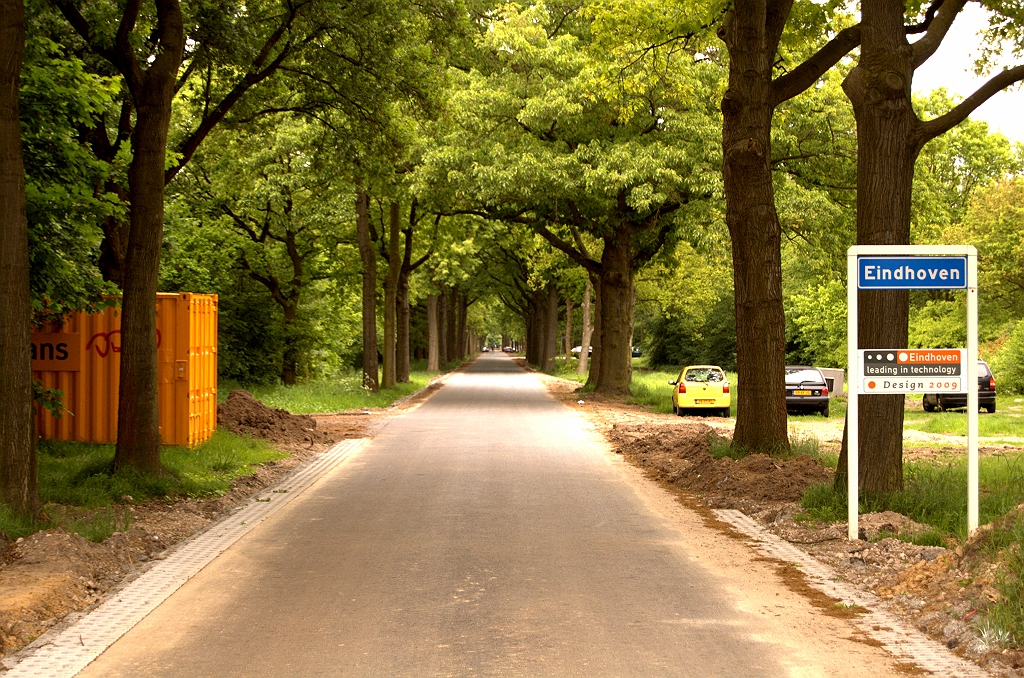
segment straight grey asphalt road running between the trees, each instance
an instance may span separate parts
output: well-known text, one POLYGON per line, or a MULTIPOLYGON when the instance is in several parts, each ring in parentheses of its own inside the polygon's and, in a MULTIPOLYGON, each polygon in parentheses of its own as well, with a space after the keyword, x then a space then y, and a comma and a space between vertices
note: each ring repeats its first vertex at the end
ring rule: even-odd
POLYGON ((738 567, 741 545, 696 541, 625 466, 534 376, 484 355, 80 675, 887 673, 864 645, 837 656, 842 623, 763 563, 738 567))

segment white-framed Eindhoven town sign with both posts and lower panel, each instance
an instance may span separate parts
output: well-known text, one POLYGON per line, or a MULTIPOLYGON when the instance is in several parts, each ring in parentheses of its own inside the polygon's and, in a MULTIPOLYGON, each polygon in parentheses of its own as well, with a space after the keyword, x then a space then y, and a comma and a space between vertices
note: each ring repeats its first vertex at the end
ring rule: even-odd
POLYGON ((848 537, 855 540, 859 533, 858 399, 872 392, 967 392, 967 526, 972 533, 978 528, 978 250, 971 245, 855 245, 846 261, 848 537), (962 349, 859 350, 858 290, 967 290, 967 354, 962 349), (959 366, 955 373, 953 365, 959 366))

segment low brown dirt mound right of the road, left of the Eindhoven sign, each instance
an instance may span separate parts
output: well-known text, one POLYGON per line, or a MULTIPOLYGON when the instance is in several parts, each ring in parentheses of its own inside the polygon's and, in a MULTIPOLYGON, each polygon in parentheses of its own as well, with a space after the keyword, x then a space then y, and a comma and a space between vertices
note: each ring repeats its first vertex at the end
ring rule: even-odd
POLYGON ((701 495, 793 502, 807 485, 833 478, 830 469, 806 455, 786 460, 767 455, 715 459, 710 452, 715 435, 706 424, 615 424, 608 431, 616 452, 701 495))

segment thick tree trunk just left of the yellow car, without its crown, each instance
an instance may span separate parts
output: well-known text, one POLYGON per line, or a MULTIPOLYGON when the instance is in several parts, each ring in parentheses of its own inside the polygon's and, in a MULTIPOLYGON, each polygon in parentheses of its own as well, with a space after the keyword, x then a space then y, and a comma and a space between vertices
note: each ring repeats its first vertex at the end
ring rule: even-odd
MULTIPOLYGON (((601 253, 600 356, 595 347, 595 364, 600 366, 595 393, 623 397, 630 394, 633 356, 633 253, 629 235, 616 232, 604 239, 601 253)), ((592 368, 593 370, 593 368, 592 368)))

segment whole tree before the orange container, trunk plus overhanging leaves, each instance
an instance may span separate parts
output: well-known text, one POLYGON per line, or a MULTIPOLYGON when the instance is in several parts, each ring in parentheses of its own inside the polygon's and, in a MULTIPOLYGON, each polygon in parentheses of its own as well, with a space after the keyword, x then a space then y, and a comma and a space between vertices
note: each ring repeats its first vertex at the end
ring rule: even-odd
MULTIPOLYGON (((97 155, 115 158, 126 142, 131 146, 128 189, 121 192, 129 218, 109 221, 101 261, 124 290, 115 467, 162 472, 153 295, 165 184, 240 109, 239 118, 247 121, 281 112, 340 117, 344 122, 336 124, 350 136, 360 136, 352 134, 357 129, 368 138, 387 137, 392 103, 424 100, 421 86, 436 67, 430 46, 444 44, 433 29, 450 23, 454 8, 386 0, 267 0, 244 7, 189 2, 186 40, 177 0, 155 0, 155 14, 140 0, 129 0, 116 14, 105 6, 83 12, 74 0, 52 2, 106 65, 99 68, 113 69, 125 86, 117 122, 102 120, 86 130, 97 155), (424 43, 424 35, 435 40, 424 43), (287 74, 287 84, 281 74, 287 74), (168 163, 175 94, 190 105, 175 135, 176 162, 168 163)), ((385 138, 379 145, 387 143, 385 138)))

